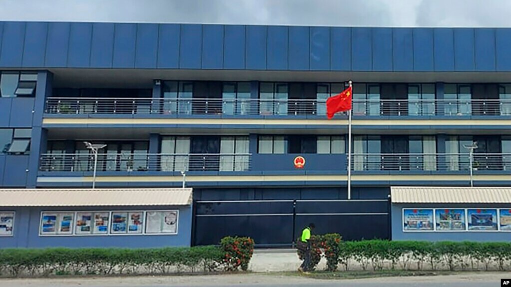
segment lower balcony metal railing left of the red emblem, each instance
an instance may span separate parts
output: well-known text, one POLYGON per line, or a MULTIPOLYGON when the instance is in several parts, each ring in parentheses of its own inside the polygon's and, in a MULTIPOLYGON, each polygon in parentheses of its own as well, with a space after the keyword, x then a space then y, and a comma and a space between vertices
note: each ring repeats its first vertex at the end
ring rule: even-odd
MULTIPOLYGON (((250 154, 137 154, 98 155, 98 172, 181 172, 250 170, 250 154)), ((92 154, 42 154, 39 170, 43 172, 90 172, 92 154)))

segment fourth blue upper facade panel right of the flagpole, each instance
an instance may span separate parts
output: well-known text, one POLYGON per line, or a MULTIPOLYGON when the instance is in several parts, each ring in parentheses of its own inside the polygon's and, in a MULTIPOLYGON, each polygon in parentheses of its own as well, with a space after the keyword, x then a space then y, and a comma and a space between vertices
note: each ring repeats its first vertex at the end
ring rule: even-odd
POLYGON ((433 71, 433 29, 413 30, 413 70, 433 71))

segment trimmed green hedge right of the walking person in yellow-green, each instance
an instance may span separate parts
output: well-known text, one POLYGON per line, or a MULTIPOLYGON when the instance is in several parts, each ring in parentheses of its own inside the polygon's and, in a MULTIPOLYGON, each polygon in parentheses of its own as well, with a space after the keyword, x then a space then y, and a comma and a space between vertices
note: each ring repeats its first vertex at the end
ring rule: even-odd
MULTIPOLYGON (((338 235, 338 234, 336 234, 338 235)), ((508 242, 424 242, 368 240, 332 245, 335 234, 317 235, 327 259, 327 270, 344 270, 357 262, 362 270, 511 270, 511 243, 508 242), (334 254, 332 254, 334 253, 334 254)), ((335 239, 334 239, 335 241, 335 239)), ((321 254, 320 254, 321 255, 321 254)), ((313 262, 314 267, 319 260, 313 262)))

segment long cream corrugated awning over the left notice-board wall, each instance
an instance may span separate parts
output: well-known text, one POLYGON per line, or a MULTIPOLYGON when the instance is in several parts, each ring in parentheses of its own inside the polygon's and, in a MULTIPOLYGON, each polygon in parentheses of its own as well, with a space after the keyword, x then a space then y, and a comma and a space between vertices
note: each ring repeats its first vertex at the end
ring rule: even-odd
POLYGON ((192 188, 0 189, 0 206, 164 206, 192 204, 192 188))

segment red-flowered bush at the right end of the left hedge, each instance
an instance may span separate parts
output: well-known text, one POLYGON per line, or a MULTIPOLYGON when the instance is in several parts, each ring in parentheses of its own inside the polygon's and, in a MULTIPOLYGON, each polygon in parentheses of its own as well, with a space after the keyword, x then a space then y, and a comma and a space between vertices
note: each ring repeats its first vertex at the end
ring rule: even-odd
POLYGON ((227 271, 247 271, 248 264, 254 252, 254 241, 250 237, 222 238, 220 246, 224 252, 223 264, 227 271))

